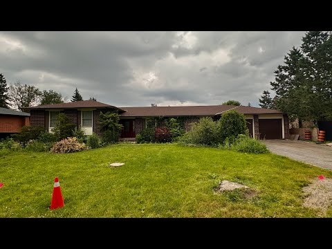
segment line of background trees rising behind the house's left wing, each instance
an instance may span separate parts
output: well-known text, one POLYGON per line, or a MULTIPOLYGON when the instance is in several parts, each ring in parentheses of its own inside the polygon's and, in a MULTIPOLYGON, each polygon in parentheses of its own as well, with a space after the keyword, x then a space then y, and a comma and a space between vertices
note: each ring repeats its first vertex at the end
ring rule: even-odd
MULTIPOLYGON (((81 100, 83 100, 82 95, 76 88, 71 102, 81 100)), ((95 97, 90 97, 89 100, 97 101, 95 97)), ((36 86, 21 84, 19 81, 8 86, 6 77, 0 73, 0 107, 23 111, 24 107, 64 102, 66 102, 66 98, 53 90, 40 91, 36 86)))

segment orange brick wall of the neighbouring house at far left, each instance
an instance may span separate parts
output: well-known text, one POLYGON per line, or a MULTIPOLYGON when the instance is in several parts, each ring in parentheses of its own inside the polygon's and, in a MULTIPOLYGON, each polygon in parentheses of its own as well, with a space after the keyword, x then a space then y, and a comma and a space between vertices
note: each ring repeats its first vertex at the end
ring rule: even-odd
POLYGON ((28 125, 28 120, 26 116, 0 115, 0 133, 17 133, 28 125))

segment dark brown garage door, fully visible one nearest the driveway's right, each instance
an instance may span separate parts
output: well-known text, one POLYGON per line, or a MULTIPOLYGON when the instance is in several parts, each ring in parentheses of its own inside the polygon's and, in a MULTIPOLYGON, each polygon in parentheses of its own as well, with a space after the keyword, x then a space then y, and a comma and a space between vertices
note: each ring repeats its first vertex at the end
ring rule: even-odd
POLYGON ((282 139, 282 119, 260 119, 259 138, 282 139))

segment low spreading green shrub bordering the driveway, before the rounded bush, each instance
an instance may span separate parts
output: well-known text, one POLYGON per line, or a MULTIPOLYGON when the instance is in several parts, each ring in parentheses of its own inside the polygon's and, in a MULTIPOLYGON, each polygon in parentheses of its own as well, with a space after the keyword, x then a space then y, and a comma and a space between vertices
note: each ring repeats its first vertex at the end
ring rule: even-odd
POLYGON ((242 134, 240 134, 232 144, 230 144, 228 138, 226 138, 224 145, 219 147, 243 153, 252 153, 252 154, 268 153, 268 149, 266 148, 266 145, 264 145, 264 143, 242 134))

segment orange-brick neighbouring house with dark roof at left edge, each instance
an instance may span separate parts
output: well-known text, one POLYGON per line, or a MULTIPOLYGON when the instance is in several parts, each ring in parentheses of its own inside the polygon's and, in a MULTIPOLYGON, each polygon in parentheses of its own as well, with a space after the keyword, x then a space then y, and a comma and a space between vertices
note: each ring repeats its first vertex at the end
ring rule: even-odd
POLYGON ((30 124, 30 113, 0 107, 0 138, 19 133, 21 127, 30 124))

